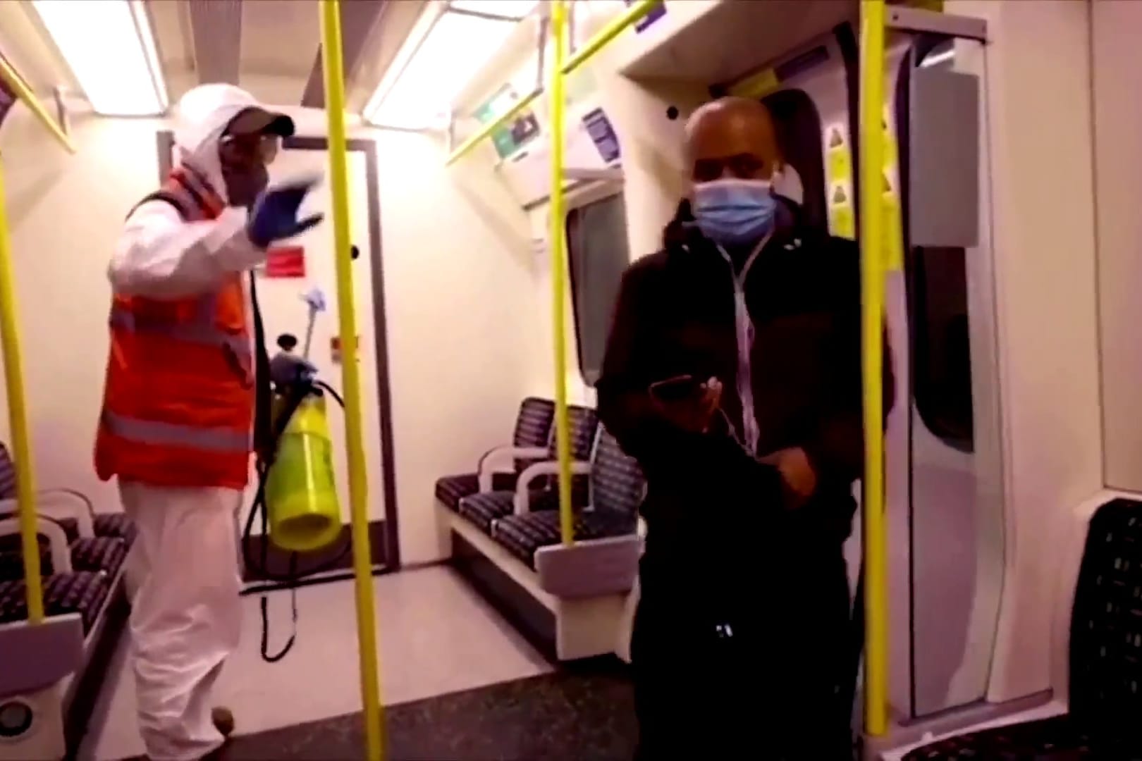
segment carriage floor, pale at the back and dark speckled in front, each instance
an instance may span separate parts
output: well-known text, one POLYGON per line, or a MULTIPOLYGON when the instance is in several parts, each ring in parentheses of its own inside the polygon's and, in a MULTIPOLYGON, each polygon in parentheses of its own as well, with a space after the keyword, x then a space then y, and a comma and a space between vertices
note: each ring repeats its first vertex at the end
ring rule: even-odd
MULTIPOLYGON (((447 566, 373 581, 388 758, 632 756, 634 698, 617 658, 553 667, 447 566)), ((259 655, 258 596, 242 598, 242 642, 215 691, 238 726, 224 759, 363 754, 353 581, 297 592, 297 642, 276 664, 259 655)), ((288 596, 270 596, 271 651, 289 635, 288 596)), ((107 670, 83 761, 144 753, 126 643, 107 670)))

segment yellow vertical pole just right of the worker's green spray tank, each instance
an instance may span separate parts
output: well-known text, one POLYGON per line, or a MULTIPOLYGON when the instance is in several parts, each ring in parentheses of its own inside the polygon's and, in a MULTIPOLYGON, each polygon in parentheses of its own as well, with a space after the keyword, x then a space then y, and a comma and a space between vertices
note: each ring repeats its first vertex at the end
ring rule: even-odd
POLYGON ((368 478, 361 430, 361 371, 357 366, 356 310, 349 253, 348 162, 345 156, 345 75, 341 60, 341 17, 338 0, 321 2, 321 63, 325 74, 325 115, 329 121, 329 188, 333 205, 337 264, 337 311, 341 342, 341 387, 345 394, 345 448, 348 451, 349 515, 353 576, 356 594, 361 705, 364 710, 365 759, 384 758, 384 717, 377 658, 377 624, 369 551, 368 478))

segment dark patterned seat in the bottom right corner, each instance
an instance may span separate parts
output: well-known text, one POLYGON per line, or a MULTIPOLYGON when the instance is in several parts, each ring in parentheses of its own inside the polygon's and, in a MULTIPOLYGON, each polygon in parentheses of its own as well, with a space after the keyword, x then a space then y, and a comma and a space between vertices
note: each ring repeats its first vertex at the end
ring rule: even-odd
POLYGON ((1142 759, 1142 502, 1091 519, 1071 612, 1070 713, 931 743, 904 761, 1142 759))

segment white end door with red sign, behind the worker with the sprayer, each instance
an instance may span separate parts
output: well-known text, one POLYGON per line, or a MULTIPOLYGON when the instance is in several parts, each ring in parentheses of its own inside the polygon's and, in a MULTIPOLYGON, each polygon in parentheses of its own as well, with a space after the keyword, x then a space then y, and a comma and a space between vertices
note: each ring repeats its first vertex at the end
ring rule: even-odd
MULTIPOLYGON (((376 213, 368 203, 369 172, 367 151, 347 152, 348 189, 351 203, 352 242, 359 256, 353 261, 353 288, 356 301, 357 362, 361 364, 361 411, 364 429, 364 460, 369 479, 369 523, 372 539, 372 561, 385 565, 395 559, 394 521, 386 521, 386 478, 384 469, 384 443, 381 439, 381 384, 386 383, 383 369, 383 342, 377 341, 378 330, 384 330, 376 319, 373 300, 373 267, 376 258, 370 256, 370 213, 376 213), (380 365, 378 365, 378 359, 380 365)), ((270 165, 271 183, 305 176, 325 175, 328 152, 323 139, 298 138, 287 140, 278 157, 270 165)), ((333 262, 332 230, 330 229, 331 201, 328 179, 322 181, 306 199, 303 213, 321 211, 325 224, 287 242, 276 251, 271 250, 266 266, 257 274, 258 301, 262 307, 266 331, 266 348, 273 356, 278 351, 278 338, 284 333, 298 339, 295 354, 300 355, 307 343, 306 325, 308 307, 303 296, 317 289, 324 297, 325 308, 316 315, 312 337, 308 337, 309 362, 322 378, 339 389, 341 384, 340 347, 337 339, 338 305, 333 262)), ((387 398, 387 392, 385 394, 387 398)), ((333 469, 337 477, 337 495, 341 505, 341 520, 348 535, 348 464, 345 452, 345 415, 333 399, 327 398, 329 429, 333 442, 333 469)), ((336 543, 333 550, 340 552, 336 543)), ((327 559, 328 560, 328 559, 327 559)), ((321 560, 314 559, 316 565, 321 560)), ((276 565, 276 564, 275 564, 276 565)), ((328 562, 325 564, 328 565, 328 562)), ((340 565, 340 564, 338 564, 340 565)), ((347 562, 345 566, 347 567, 347 562)), ((304 569, 303 569, 304 570, 304 569)))

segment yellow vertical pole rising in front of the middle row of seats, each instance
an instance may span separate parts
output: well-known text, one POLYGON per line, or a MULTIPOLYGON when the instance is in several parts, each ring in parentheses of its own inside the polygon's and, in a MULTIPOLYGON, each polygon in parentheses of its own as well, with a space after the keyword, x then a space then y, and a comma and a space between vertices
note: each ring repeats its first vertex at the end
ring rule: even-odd
POLYGON ((563 58, 566 55, 566 6, 553 0, 552 65, 547 94, 552 122, 552 331, 555 343, 555 446, 560 461, 560 536, 564 544, 574 542, 571 515, 571 431, 568 430, 568 347, 566 347, 566 249, 563 229, 563 58))

